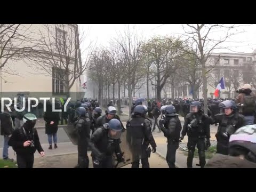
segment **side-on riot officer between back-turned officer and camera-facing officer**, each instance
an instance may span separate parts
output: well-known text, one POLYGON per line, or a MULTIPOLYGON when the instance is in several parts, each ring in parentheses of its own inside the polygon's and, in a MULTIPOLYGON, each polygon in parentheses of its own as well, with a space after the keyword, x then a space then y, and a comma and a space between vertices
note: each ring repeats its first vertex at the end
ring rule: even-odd
POLYGON ((176 150, 179 148, 179 138, 181 123, 179 114, 176 113, 174 106, 166 106, 165 116, 159 121, 159 126, 167 138, 166 162, 169 168, 175 168, 176 150))

